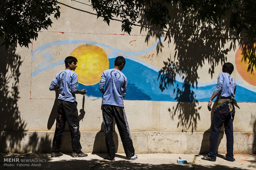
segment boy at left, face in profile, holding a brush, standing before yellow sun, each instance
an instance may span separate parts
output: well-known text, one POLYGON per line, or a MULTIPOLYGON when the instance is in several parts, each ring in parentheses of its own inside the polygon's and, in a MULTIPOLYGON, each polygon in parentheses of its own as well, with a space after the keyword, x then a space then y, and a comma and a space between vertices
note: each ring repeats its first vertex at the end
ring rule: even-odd
POLYGON ((77 74, 74 72, 77 65, 77 59, 75 57, 69 56, 65 59, 66 69, 60 71, 55 79, 52 81, 49 89, 55 90, 59 89, 58 97, 58 112, 56 119, 56 129, 52 142, 52 157, 62 156, 63 154, 59 152, 60 146, 62 144, 62 133, 65 128, 66 121, 69 125, 69 130, 71 133, 71 143, 73 157, 84 157, 87 154, 81 151, 82 147, 80 144, 80 131, 79 131, 79 119, 77 110, 77 101, 75 94, 84 95, 87 91, 85 89, 77 89, 77 74))

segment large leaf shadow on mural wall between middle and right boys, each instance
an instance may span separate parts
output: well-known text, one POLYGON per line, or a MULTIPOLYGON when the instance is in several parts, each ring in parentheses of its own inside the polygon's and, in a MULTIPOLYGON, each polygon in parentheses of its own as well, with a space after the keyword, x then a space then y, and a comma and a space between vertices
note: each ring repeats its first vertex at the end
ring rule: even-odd
MULTIPOLYGON (((168 6, 171 19, 168 21, 167 31, 159 29, 145 19, 141 19, 139 23, 142 25, 141 31, 145 30, 148 34, 145 42, 148 42, 151 37, 155 37, 156 40, 164 37, 169 48, 175 47, 175 54, 170 53, 170 56, 166 56, 167 59, 163 61, 163 67, 159 71, 159 88, 162 92, 168 88, 174 88, 173 94, 176 94, 175 100, 178 103, 168 108, 168 112, 172 119, 178 116, 177 127, 181 127, 182 131, 191 129, 193 133, 197 129, 201 109, 194 89, 197 89, 199 78, 204 78, 199 77, 198 70, 204 65, 209 65, 208 74, 212 78, 215 67, 227 62, 228 52, 235 51, 237 44, 243 44, 246 40, 239 39, 234 30, 228 29, 228 17, 223 18, 220 24, 212 29, 211 26, 185 13, 177 4, 169 3, 168 6), (227 46, 228 43, 230 43, 229 46, 227 46), (176 84, 176 76, 182 78, 182 87, 176 84)), ((143 13, 141 18, 144 18, 143 13)), ((168 47, 160 42, 157 46, 158 55, 161 55, 163 48, 168 47)), ((208 131, 205 131, 203 140, 206 139, 208 131)), ((204 145, 205 141, 201 144, 204 145)), ((200 152, 206 152, 202 148, 204 146, 201 146, 200 152)))

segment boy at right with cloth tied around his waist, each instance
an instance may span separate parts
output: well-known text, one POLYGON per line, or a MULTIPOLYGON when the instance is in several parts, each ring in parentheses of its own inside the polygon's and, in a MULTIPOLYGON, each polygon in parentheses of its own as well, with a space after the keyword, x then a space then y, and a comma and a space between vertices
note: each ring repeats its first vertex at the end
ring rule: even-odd
POLYGON ((217 105, 214 109, 213 119, 211 122, 209 154, 202 157, 203 160, 207 161, 216 161, 218 137, 223 123, 227 138, 227 154, 224 156, 224 159, 227 161, 235 161, 233 154, 233 120, 235 117, 235 106, 238 108, 239 106, 234 99, 237 85, 231 76, 234 71, 233 64, 230 62, 224 63, 222 71, 223 72, 218 76, 216 89, 208 103, 208 110, 211 111, 212 101, 217 96, 217 105))

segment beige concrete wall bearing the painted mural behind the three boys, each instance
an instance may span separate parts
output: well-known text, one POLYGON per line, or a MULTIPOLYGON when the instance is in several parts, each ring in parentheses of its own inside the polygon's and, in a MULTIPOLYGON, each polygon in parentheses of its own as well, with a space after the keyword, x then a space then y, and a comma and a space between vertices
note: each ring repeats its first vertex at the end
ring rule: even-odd
MULTIPOLYGON (((55 75, 65 68, 64 58, 72 54, 80 64, 76 70, 78 88, 88 90, 85 96, 76 95, 84 152, 106 152, 97 76, 101 76, 100 66, 113 68, 114 58, 123 55, 126 58, 123 73, 128 78, 124 103, 136 153, 208 152, 213 112, 208 111, 207 103, 223 58, 235 66, 232 76, 237 82, 236 99, 240 106, 236 108, 234 120, 234 152, 255 153, 256 76, 247 72, 241 62, 238 43, 235 50, 230 50, 229 37, 217 36, 218 32, 211 38, 187 37, 184 33, 167 40, 166 37, 157 39, 150 30, 141 30, 138 26, 128 35, 121 32, 120 21, 111 21, 108 26, 102 18, 88 13, 94 12, 89 6, 60 2, 84 11, 60 5, 59 20, 53 19, 52 28, 40 31, 29 48, 0 49, 5 58, 1 67, 0 152, 50 152, 57 94, 50 91, 49 86, 55 75), (84 55, 75 50, 79 46, 84 55), (178 74, 173 85, 161 89, 159 71, 169 64, 168 59, 177 62, 177 56, 183 54, 188 69, 198 67, 195 69, 197 87, 186 84, 183 87, 183 75, 178 74), (214 57, 218 60, 209 72, 209 60, 214 57)), ((117 152, 123 152, 118 132, 114 132, 114 139, 117 152)), ((218 152, 225 153, 223 129, 219 142, 218 152)), ((67 126, 62 151, 71 152, 67 126)))

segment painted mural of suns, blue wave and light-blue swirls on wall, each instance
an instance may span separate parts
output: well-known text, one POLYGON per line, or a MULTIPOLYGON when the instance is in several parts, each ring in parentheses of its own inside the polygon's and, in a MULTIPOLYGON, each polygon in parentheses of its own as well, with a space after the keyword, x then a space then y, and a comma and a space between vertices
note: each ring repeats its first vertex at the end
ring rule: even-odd
MULTIPOLYGON (((180 77, 176 77, 175 85, 162 92, 159 88, 158 80, 160 69, 138 60, 135 57, 140 55, 151 60, 151 58, 154 57, 153 51, 159 41, 142 51, 124 51, 95 41, 54 41, 33 50, 32 61, 36 67, 31 71, 31 76, 35 78, 39 74, 44 73, 44 71, 63 64, 64 58, 68 55, 75 56, 78 59, 78 68, 75 71, 78 74, 78 89, 86 89, 88 93, 85 96, 88 98, 99 99, 102 97, 102 94, 98 90, 98 83, 100 82, 102 71, 114 67, 115 58, 122 55, 126 58, 126 67, 122 72, 128 79, 126 100, 177 101, 176 94, 173 91, 176 87, 182 87, 183 80, 180 77), (56 52, 53 50, 56 46, 65 49, 70 48, 70 45, 76 46, 70 54, 56 57, 56 52), (108 49, 110 52, 106 53, 103 49, 108 49), (149 54, 151 51, 152 54, 149 54), (40 60, 38 60, 38 58, 40 58, 40 60)), ((132 41, 130 41, 130 43, 130 45, 132 45, 132 41)), ((242 69, 240 69, 245 67, 242 63, 237 62, 240 60, 240 57, 241 50, 238 50, 236 55, 236 67, 239 67, 239 74, 245 75, 241 75, 242 78, 255 86, 256 75, 247 73, 247 70, 242 71, 242 69)), ((54 76, 52 76, 52 78, 53 77, 54 76)), ((236 82, 237 91, 239 91, 239 93, 236 94, 237 102, 256 102, 256 90, 243 85, 238 80, 236 80, 236 82)), ((191 87, 190 89, 193 90, 197 101, 208 101, 215 87, 216 81, 213 81, 209 83, 198 83, 197 88, 191 87)))

